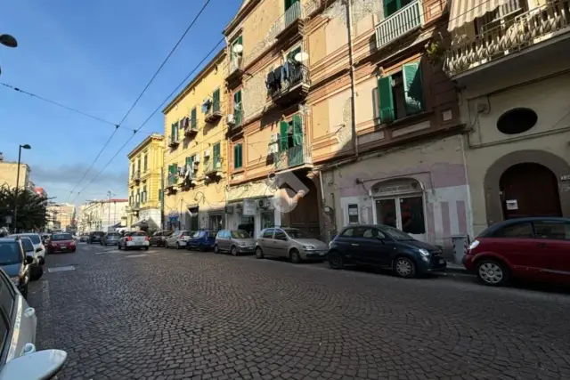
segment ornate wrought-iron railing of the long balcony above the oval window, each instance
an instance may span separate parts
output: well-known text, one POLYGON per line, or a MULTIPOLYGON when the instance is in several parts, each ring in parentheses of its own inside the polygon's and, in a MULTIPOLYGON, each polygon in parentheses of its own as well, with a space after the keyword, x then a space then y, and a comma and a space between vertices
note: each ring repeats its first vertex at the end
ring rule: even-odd
POLYGON ((444 65, 450 76, 570 31, 570 0, 544 4, 514 19, 507 15, 493 20, 497 21, 499 25, 482 30, 476 36, 453 39, 444 65))

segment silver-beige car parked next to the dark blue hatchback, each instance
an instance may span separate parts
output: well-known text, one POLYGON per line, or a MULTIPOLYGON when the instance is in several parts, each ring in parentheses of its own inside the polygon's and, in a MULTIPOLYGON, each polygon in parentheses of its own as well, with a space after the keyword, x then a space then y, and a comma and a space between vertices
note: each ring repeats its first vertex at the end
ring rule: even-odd
POLYGON ((304 260, 324 260, 329 246, 294 228, 268 228, 262 230, 256 241, 256 257, 287 257, 291 263, 304 260))

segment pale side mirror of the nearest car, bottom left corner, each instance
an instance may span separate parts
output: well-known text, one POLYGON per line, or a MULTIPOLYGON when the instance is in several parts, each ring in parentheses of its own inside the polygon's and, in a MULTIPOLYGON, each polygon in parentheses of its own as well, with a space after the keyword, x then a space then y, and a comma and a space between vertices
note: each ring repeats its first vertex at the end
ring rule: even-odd
POLYGON ((0 371, 0 380, 48 380, 60 372, 67 358, 67 352, 61 350, 28 353, 8 361, 0 371))

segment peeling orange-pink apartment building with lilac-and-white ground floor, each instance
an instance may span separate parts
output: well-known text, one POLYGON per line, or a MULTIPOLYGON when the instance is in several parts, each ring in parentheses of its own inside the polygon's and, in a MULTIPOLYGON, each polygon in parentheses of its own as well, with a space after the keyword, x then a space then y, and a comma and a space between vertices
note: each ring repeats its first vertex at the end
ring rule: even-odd
POLYGON ((470 231, 456 93, 426 56, 447 27, 444 9, 443 0, 242 4, 224 30, 229 150, 240 163, 229 167, 232 226, 258 232, 273 214, 275 225, 329 239, 349 223, 383 223, 442 245, 470 231), (272 210, 284 187, 303 198, 272 210))

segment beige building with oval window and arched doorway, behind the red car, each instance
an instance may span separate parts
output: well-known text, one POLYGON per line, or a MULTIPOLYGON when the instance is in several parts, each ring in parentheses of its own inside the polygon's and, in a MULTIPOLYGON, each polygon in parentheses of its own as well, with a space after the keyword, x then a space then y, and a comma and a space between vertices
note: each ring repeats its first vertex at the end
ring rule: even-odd
POLYGON ((570 216, 570 2, 452 0, 448 29, 474 232, 570 216))

